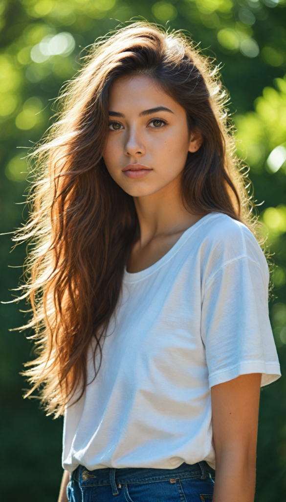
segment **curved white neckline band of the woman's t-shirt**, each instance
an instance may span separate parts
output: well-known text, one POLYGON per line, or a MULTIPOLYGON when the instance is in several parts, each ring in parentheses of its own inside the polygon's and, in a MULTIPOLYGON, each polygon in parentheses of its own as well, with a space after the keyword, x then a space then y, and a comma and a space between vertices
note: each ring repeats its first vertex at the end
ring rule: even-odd
POLYGON ((202 224, 204 224, 208 219, 210 219, 213 216, 219 216, 221 213, 215 213, 211 212, 203 216, 201 219, 199 219, 196 223, 191 225, 189 228, 187 228, 184 233, 178 238, 177 242, 169 249, 169 251, 160 258, 157 262, 155 262, 153 265, 148 267, 147 269, 140 270, 140 272, 135 272, 135 273, 130 273, 127 272, 126 267, 124 270, 124 277, 123 277, 123 282, 124 283, 134 283, 141 281, 142 279, 146 279, 146 277, 149 277, 151 274, 154 274, 158 269, 160 269, 163 265, 165 265, 173 256, 178 252, 178 250, 184 245, 184 243, 189 239, 189 237, 192 235, 192 233, 199 228, 202 224))

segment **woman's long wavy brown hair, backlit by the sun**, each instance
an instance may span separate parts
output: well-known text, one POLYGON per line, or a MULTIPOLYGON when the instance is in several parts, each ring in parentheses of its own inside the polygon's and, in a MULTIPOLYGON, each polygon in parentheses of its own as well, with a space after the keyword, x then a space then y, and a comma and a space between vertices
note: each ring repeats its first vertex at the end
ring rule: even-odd
MULTIPOLYGON (((87 351, 102 341, 121 291, 138 230, 134 202, 109 175, 102 152, 108 100, 121 75, 147 74, 187 113, 204 141, 189 153, 182 194, 190 211, 218 211, 254 228, 244 177, 234 154, 225 92, 216 68, 180 33, 133 23, 92 47, 61 95, 57 122, 33 154, 37 161, 30 220, 16 240, 33 239, 27 261, 38 357, 26 371, 59 415, 88 384, 87 351)), ((98 371, 99 366, 96 370, 98 371)))

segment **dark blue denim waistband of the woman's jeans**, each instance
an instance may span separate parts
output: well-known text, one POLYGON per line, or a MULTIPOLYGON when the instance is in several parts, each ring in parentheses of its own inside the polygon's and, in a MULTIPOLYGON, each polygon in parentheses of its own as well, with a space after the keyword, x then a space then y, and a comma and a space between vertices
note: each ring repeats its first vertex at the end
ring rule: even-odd
POLYGON ((196 464, 182 463, 175 469, 151 469, 139 467, 125 467, 114 469, 106 467, 104 469, 89 470, 83 465, 79 465, 72 473, 72 478, 79 482, 80 486, 100 486, 111 484, 130 483, 150 483, 176 478, 200 477, 202 479, 211 476, 213 470, 205 462, 196 464))

